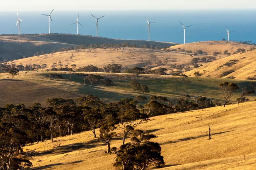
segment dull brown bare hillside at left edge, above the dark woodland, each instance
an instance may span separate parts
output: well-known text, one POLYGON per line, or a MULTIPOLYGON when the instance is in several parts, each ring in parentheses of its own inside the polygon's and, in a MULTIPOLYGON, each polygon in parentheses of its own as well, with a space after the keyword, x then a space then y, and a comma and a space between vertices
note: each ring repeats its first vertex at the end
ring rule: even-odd
POLYGON ((29 107, 38 102, 47 106, 46 100, 53 97, 78 98, 80 95, 37 83, 0 79, 0 107, 5 104, 25 104, 29 107))

